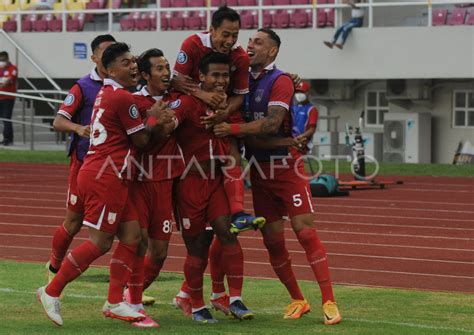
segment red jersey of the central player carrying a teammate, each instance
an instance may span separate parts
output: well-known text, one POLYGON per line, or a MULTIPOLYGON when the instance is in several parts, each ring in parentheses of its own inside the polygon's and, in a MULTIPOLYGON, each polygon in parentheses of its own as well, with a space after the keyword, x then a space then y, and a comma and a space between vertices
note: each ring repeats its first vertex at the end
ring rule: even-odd
POLYGON ((201 100, 190 95, 181 95, 170 104, 178 119, 176 136, 188 164, 193 157, 198 162, 214 159, 215 156, 228 155, 228 139, 218 138, 212 128, 202 124, 201 117, 213 111, 201 100))

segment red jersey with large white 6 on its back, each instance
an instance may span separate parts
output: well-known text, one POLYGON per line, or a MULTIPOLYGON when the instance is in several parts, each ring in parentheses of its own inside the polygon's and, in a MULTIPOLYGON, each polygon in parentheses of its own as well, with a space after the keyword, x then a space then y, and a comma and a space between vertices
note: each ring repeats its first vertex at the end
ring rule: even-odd
POLYGON ((83 170, 130 179, 135 147, 130 135, 145 128, 134 96, 112 79, 105 79, 91 118, 91 142, 83 170))

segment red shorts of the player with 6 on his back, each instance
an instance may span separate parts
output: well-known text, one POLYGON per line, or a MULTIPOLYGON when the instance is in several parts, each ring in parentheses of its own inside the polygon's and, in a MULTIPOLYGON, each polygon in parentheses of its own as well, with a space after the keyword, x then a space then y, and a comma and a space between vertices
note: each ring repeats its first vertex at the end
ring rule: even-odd
POLYGON ((115 234, 120 222, 137 221, 128 201, 128 183, 113 175, 81 170, 77 177, 79 197, 84 201, 85 226, 115 234))

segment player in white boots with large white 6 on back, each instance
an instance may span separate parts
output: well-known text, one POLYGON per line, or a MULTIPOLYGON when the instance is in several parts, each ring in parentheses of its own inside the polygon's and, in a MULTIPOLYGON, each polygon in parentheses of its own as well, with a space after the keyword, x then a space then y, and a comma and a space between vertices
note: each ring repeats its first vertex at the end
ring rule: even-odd
POLYGON ((144 124, 133 95, 125 89, 138 82, 137 64, 127 44, 110 45, 104 50, 102 64, 107 78, 94 103, 91 143, 77 180, 89 239, 73 249, 51 283, 37 291, 38 300, 56 325, 63 324, 61 292, 111 248, 115 235, 119 243, 110 261, 109 294, 102 312, 129 322, 145 318, 123 302, 123 287, 141 238, 137 214, 128 201, 128 180, 133 173, 130 157, 135 148, 143 148, 152 136, 159 135, 162 123, 171 121, 171 115, 152 115, 147 126, 144 124))

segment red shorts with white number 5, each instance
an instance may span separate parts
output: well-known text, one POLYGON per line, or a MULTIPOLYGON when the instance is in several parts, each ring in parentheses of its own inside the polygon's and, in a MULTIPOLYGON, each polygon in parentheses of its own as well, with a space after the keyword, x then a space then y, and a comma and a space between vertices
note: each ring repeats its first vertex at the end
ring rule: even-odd
POLYGON ((314 213, 309 181, 304 171, 303 161, 295 166, 294 161, 288 161, 287 168, 282 169, 281 161, 275 162, 278 168, 273 169, 271 178, 270 163, 260 162, 259 166, 267 179, 263 179, 255 166, 252 166, 250 178, 252 181, 253 207, 255 215, 263 216, 267 222, 281 220, 284 216, 314 213))

